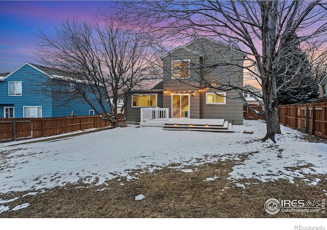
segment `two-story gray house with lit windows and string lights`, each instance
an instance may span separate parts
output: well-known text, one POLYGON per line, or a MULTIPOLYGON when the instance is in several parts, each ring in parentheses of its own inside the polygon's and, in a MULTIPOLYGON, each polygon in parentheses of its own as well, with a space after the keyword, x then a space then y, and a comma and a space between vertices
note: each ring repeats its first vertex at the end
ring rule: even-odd
POLYGON ((228 86, 217 89, 218 85, 227 85, 226 82, 243 86, 243 53, 200 37, 161 59, 162 82, 153 89, 132 91, 127 96, 127 122, 140 121, 140 108, 161 107, 169 108, 169 118, 243 123, 243 101, 237 91, 228 86))

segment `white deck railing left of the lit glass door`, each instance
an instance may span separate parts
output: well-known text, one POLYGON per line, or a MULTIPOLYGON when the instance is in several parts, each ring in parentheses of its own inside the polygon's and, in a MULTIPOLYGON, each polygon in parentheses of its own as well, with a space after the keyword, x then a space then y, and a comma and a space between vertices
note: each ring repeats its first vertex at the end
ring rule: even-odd
POLYGON ((163 127, 169 119, 169 108, 141 108, 141 126, 163 127))

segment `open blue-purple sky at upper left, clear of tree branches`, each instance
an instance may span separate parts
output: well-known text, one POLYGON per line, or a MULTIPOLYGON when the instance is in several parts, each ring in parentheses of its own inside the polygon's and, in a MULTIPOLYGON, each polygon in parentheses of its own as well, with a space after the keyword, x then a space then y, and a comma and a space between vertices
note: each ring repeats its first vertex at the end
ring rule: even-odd
POLYGON ((0 1, 0 73, 25 62, 36 63, 33 50, 39 30, 51 33, 67 17, 88 18, 107 1, 0 1))

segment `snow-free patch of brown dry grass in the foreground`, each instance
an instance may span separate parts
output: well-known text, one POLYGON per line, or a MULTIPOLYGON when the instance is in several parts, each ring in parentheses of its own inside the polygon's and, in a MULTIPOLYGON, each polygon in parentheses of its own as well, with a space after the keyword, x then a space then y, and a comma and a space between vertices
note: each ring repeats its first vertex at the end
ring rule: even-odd
MULTIPOLYGON (((244 156, 246 158, 246 156, 244 156)), ((321 213, 282 213, 269 215, 264 203, 276 199, 326 199, 326 176, 316 186, 305 180, 260 182, 253 179, 230 180, 236 164, 231 160, 190 166, 178 170, 171 165, 160 170, 134 171, 138 179, 117 177, 106 186, 83 183, 46 190, 37 195, 28 192, 0 194, 2 203, 13 209, 30 203, 27 208, 5 211, 2 218, 323 218, 321 213), (135 197, 143 194, 142 200, 135 197), (24 196, 24 197, 23 197, 24 196)), ((310 175, 308 175, 310 177, 310 175)), ((311 179, 311 178, 310 178, 311 179)), ((35 192, 35 191, 33 191, 35 192)))

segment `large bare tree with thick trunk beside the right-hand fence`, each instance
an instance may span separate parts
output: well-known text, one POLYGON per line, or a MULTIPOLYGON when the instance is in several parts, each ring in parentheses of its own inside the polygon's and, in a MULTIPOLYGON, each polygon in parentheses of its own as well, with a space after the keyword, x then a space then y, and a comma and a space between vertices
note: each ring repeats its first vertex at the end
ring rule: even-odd
MULTIPOLYGON (((264 111, 252 109, 265 116, 267 133, 263 140, 274 140, 275 134, 281 133, 277 95, 291 82, 300 81, 303 68, 308 68, 307 60, 301 61, 283 48, 285 41, 296 34, 301 51, 313 54, 310 66, 318 66, 323 60, 319 57, 326 55, 327 10, 322 1, 151 1, 128 2, 128 9, 131 23, 142 20, 149 32, 165 42, 204 35, 243 52, 245 76, 255 79, 263 90, 264 111), (292 74, 277 88, 277 79, 285 73, 281 70, 292 74)), ((225 80, 205 87, 236 89, 248 106, 243 85, 229 81, 228 72, 222 71, 223 66, 233 63, 230 58, 225 63, 202 66, 223 73, 225 80)))

